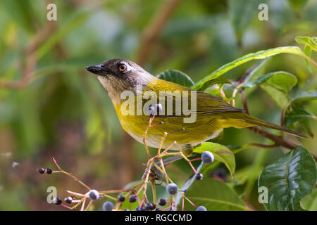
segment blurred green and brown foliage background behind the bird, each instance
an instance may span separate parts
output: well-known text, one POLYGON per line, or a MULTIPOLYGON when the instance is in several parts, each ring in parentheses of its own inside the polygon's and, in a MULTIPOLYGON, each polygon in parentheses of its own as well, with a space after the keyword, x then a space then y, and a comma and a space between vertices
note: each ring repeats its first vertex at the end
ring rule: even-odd
MULTIPOLYGON (((247 53, 298 46, 295 37, 316 36, 316 22, 313 0, 1 0, 0 210, 63 210, 46 203, 47 187, 56 186, 61 198, 66 190, 85 191, 65 175, 38 174, 39 167, 56 169, 52 157, 99 191, 123 188, 142 176, 144 147, 120 127, 110 98, 86 65, 126 58, 153 75, 175 69, 197 82, 247 53), (263 2, 268 21, 258 19, 263 2), (57 6, 57 21, 46 20, 49 3, 57 6), (160 30, 153 21, 164 13, 160 30), (156 37, 147 37, 153 30, 156 37)), ((223 78, 238 79, 254 63, 223 78)), ((311 74, 299 56, 274 56, 268 63, 266 72, 297 76, 294 91, 316 89, 316 70, 311 74)), ((247 91, 247 101, 252 115, 280 122, 280 108, 261 89, 247 91)), ((316 115, 316 101, 306 109, 316 115)), ((317 134, 316 121, 311 130, 317 134)), ((270 143, 248 129, 225 129, 215 142, 270 143)), ((301 142, 317 153, 316 138, 301 142)), ((249 148, 236 155, 237 179, 245 172, 249 179, 235 189, 256 210, 263 210, 257 201, 259 172, 282 154, 281 148, 249 148)), ((180 183, 192 174, 185 162, 168 171, 180 183)))

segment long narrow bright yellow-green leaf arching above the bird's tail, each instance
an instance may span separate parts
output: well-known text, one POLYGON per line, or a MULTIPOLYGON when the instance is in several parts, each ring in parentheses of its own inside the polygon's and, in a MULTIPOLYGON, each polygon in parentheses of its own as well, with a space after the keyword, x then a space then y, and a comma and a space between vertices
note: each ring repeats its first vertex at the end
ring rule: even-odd
POLYGON ((202 90, 206 82, 209 82, 211 79, 216 79, 217 77, 220 77, 221 75, 223 75, 225 72, 228 72, 229 70, 232 70, 233 68, 236 68, 238 65, 247 63, 250 60, 268 58, 271 56, 278 55, 280 53, 291 53, 291 54, 295 54, 295 55, 299 55, 303 57, 306 56, 302 52, 302 50, 299 49, 299 47, 295 47, 295 46, 285 46, 285 47, 279 47, 275 49, 257 51, 256 53, 249 53, 245 56, 242 56, 241 58, 238 58, 218 68, 216 71, 212 72, 210 75, 206 76, 204 79, 201 79, 199 82, 197 82, 197 84, 192 86, 192 89, 202 90))

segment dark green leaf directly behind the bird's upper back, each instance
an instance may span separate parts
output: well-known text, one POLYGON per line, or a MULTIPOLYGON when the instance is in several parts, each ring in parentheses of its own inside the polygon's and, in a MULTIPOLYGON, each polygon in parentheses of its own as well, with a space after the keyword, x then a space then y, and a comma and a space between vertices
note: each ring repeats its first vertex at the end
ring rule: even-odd
POLYGON ((167 70, 156 76, 159 79, 167 80, 168 82, 173 82, 175 84, 180 84, 182 86, 192 86, 194 82, 188 75, 179 70, 167 70))

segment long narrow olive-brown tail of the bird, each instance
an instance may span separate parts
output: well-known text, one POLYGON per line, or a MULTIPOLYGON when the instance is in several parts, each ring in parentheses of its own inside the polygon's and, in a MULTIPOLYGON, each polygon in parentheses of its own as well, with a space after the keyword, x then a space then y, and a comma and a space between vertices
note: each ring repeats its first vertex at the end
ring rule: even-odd
POLYGON ((278 131, 283 131, 286 132, 288 134, 292 134, 294 136, 298 136, 302 139, 308 139, 308 137, 304 136, 303 134, 299 134, 297 131, 293 131, 291 129, 287 129, 285 127, 281 127, 279 125, 276 124, 271 124, 271 122, 266 122, 263 120, 259 120, 256 117, 252 117, 251 115, 248 115, 247 113, 243 113, 243 119, 244 122, 247 122, 249 124, 253 124, 254 126, 260 126, 260 127, 266 127, 266 128, 270 128, 270 129, 277 129, 278 131))

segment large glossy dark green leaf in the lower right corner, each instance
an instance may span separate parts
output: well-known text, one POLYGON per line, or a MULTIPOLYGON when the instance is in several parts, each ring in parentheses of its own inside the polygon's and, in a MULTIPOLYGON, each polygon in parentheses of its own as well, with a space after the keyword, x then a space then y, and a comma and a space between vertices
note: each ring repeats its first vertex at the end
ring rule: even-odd
POLYGON ((259 176, 259 188, 268 188, 266 210, 300 210, 299 200, 313 191, 316 179, 316 162, 311 153, 297 146, 259 176))

